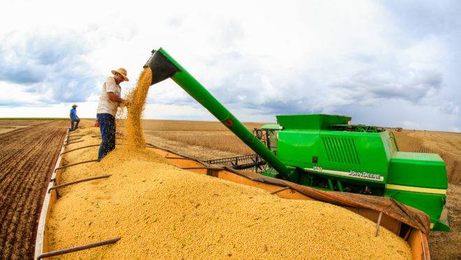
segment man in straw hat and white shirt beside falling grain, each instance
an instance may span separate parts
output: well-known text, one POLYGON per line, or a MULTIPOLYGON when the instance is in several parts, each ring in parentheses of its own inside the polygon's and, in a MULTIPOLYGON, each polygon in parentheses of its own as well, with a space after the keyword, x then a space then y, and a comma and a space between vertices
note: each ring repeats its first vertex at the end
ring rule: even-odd
POLYGON ((122 89, 119 84, 129 81, 124 68, 112 71, 112 74, 114 74, 113 77, 106 78, 103 83, 96 112, 103 138, 99 147, 98 161, 101 161, 108 152, 115 149, 115 115, 117 115, 119 104, 124 102, 120 97, 122 89))

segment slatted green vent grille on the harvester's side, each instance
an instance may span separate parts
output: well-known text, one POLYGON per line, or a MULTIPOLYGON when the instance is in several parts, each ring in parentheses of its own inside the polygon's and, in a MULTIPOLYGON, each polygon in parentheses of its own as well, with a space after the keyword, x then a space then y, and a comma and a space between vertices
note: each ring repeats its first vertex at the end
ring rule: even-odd
POLYGON ((328 161, 360 165, 356 143, 352 138, 322 137, 328 161))

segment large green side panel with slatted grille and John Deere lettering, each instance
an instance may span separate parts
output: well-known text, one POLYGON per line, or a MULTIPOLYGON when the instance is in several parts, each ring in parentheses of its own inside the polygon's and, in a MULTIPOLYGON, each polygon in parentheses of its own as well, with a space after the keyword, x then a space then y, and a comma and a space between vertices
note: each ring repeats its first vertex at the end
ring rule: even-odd
POLYGON ((390 159, 382 142, 386 134, 284 129, 279 132, 277 151, 281 161, 289 166, 329 175, 335 175, 332 171, 340 171, 339 178, 384 184, 390 159), (365 173, 382 178, 361 178, 365 173))

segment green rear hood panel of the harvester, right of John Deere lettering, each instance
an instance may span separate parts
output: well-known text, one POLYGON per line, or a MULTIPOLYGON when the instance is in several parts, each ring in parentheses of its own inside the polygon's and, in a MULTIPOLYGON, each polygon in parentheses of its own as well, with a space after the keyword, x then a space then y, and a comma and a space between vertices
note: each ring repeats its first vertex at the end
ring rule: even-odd
POLYGON ((448 189, 444 160, 439 154, 395 152, 390 159, 388 183, 448 189))

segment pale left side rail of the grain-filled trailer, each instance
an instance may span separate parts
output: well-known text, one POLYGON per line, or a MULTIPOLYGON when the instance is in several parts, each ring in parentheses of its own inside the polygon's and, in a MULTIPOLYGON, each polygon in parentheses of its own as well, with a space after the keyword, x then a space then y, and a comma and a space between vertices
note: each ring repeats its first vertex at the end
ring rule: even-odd
MULTIPOLYGON (((67 131, 66 136, 64 137, 63 143, 61 145, 61 151, 59 154, 64 152, 64 149, 66 148, 66 145, 64 145, 67 142, 67 138, 69 135, 69 131, 67 131)), ((34 259, 38 259, 38 257, 43 254, 43 241, 45 238, 45 225, 46 225, 46 219, 47 219, 47 214, 49 210, 49 205, 52 197, 52 193, 48 193, 48 189, 53 187, 54 185, 54 180, 56 179, 56 169, 59 168, 62 164, 62 157, 59 156, 57 157, 56 164, 54 164, 54 168, 52 171, 52 175, 50 178, 50 182, 48 182, 47 189, 45 190, 45 198, 43 198, 43 204, 42 204, 42 210, 40 213, 40 219, 38 219, 38 227, 37 227, 37 236, 35 239, 35 251, 34 251, 34 259)))

